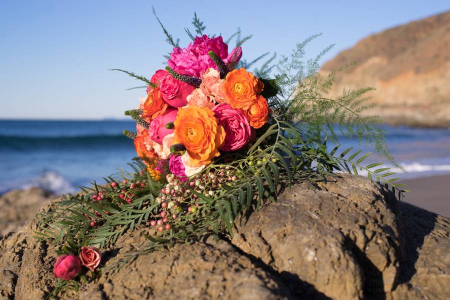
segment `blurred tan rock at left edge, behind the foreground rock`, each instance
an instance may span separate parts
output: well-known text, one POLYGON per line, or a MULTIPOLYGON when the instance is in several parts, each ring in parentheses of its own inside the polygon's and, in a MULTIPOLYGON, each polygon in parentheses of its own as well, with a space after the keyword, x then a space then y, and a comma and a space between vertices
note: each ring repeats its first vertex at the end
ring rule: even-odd
POLYGON ((40 188, 14 189, 0 196, 0 238, 33 218, 45 202, 56 196, 40 188))

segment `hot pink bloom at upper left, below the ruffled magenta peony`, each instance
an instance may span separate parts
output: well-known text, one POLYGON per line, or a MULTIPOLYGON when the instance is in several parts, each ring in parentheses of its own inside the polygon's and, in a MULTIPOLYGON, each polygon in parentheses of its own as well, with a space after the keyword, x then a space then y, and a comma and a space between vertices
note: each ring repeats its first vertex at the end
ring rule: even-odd
POLYGON ((195 87, 173 78, 166 70, 159 71, 156 74, 158 74, 158 87, 162 99, 172 107, 186 105, 186 98, 195 87), (161 72, 158 74, 159 71, 161 72))

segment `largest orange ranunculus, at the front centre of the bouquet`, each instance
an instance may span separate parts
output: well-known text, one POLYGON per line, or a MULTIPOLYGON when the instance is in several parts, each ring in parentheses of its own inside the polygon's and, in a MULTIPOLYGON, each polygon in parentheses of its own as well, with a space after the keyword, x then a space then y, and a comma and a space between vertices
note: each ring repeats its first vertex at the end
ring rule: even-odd
POLYGON ((225 130, 218 124, 208 107, 184 106, 178 108, 175 121, 175 140, 186 147, 193 165, 208 164, 225 139, 225 130))

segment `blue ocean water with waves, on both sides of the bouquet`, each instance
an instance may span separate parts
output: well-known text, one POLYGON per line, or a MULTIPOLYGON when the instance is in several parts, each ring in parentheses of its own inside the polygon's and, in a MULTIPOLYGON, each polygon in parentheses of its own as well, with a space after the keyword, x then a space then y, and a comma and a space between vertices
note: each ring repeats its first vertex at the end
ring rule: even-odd
MULTIPOLYGON (((450 130, 382 125, 390 152, 404 166, 402 178, 450 173, 450 130)), ((135 156, 133 142, 121 131, 133 121, 0 120, 0 194, 37 186, 55 193, 118 174, 135 156)), ((356 139, 339 137, 342 149, 373 151, 356 139)), ((367 163, 385 161, 377 156, 367 163)), ((399 169, 394 169, 400 171, 399 169)))

